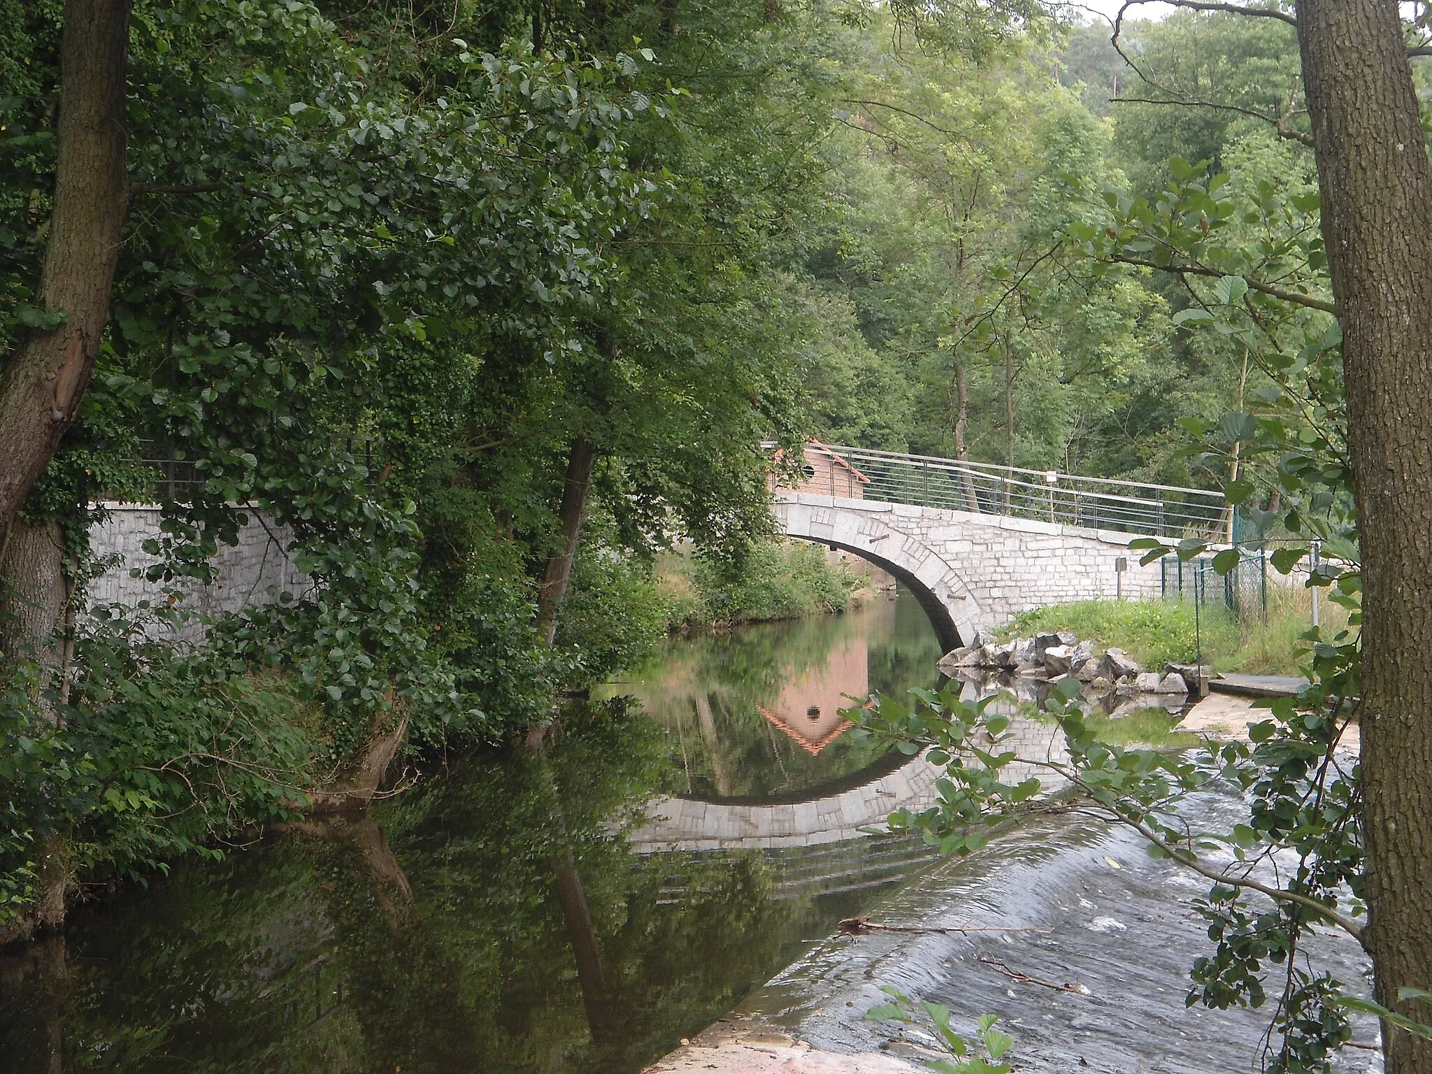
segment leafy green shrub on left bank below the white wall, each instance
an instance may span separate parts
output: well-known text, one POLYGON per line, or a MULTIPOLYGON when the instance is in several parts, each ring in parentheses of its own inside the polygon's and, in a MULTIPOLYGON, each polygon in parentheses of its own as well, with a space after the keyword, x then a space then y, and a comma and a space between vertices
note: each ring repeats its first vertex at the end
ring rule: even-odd
POLYGON ((14 664, 0 696, 0 932, 37 894, 42 848, 84 882, 137 876, 304 808, 326 772, 322 713, 292 676, 103 623, 67 702, 14 664), (57 842, 56 842, 57 841, 57 842))

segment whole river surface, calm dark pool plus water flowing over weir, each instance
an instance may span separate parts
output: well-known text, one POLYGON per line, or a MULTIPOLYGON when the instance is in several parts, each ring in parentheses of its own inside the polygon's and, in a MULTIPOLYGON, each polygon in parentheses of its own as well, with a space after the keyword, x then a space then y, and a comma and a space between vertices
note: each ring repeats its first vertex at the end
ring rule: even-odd
MULTIPOLYGON (((540 756, 454 763, 0 952, 0 1070, 637 1074, 719 1020, 918 1068, 931 1040, 862 1018, 882 984, 1001 1015, 1021 1074, 1256 1070, 1266 1010, 1184 1011, 1207 885, 1136 838, 1044 818, 938 861, 858 831, 935 773, 856 742, 845 695, 934 684, 938 656, 904 590, 673 639, 611 686, 634 702, 570 715, 540 756), (855 915, 915 931, 839 935, 855 915), (919 931, 959 925, 1018 931, 919 931)), ((1058 756, 1053 726, 997 705, 1021 756, 1058 756)))

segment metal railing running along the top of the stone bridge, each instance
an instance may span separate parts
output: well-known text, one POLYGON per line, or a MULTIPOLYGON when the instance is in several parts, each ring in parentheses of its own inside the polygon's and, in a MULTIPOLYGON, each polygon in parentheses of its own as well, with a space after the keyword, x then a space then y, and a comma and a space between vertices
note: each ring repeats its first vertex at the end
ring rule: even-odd
POLYGON ((845 467, 852 467, 866 478, 859 481, 866 500, 1171 538, 1221 541, 1229 528, 1227 501, 1221 493, 1206 488, 826 444, 818 450, 831 453, 839 461, 832 463, 825 474, 808 474, 793 490, 789 484, 782 484, 782 488, 849 495, 851 477, 845 467))

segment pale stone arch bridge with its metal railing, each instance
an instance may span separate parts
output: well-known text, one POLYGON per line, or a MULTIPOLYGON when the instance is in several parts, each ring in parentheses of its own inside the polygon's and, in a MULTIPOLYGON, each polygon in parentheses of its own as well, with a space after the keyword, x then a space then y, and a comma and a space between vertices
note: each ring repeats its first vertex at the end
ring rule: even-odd
POLYGON ((1015 611, 1161 591, 1151 534, 1223 536, 1223 497, 859 448, 806 448, 803 480, 775 490, 780 533, 859 556, 919 600, 948 652, 1015 611), (829 488, 831 491, 823 491, 829 488))

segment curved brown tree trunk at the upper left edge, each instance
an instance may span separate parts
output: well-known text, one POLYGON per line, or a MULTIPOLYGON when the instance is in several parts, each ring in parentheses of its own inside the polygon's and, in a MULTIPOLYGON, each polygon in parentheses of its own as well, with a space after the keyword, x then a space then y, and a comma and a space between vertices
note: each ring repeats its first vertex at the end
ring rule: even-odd
POLYGON ((0 538, 74 420, 100 337, 127 208, 125 62, 129 0, 66 0, 54 209, 32 331, 0 378, 0 538))

